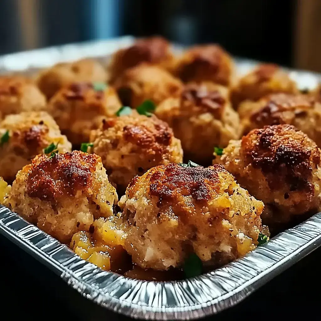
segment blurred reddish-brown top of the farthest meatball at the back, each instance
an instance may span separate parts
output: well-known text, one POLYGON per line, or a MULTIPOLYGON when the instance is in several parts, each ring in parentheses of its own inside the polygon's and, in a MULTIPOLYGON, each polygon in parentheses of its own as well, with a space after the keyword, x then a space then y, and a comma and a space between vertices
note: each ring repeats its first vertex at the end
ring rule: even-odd
POLYGON ((168 48, 168 41, 162 37, 140 39, 133 46, 125 49, 123 61, 127 68, 143 61, 158 63, 166 57, 168 48))

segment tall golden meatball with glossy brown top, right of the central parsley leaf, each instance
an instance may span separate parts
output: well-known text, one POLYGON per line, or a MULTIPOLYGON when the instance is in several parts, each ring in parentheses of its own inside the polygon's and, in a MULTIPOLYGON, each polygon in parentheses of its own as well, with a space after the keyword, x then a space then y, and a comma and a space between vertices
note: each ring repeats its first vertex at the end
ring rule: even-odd
POLYGON ((186 85, 180 98, 164 100, 155 115, 173 128, 184 157, 202 165, 213 158, 215 146, 239 138, 239 115, 230 105, 228 90, 220 85, 186 85))

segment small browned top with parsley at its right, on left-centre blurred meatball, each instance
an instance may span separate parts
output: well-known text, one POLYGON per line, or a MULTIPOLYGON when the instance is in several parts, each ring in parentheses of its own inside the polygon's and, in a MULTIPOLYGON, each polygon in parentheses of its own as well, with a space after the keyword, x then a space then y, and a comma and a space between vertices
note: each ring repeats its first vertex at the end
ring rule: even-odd
POLYGON ((74 82, 63 89, 63 94, 68 100, 85 100, 86 96, 102 100, 104 97, 104 91, 95 91, 92 82, 74 82))

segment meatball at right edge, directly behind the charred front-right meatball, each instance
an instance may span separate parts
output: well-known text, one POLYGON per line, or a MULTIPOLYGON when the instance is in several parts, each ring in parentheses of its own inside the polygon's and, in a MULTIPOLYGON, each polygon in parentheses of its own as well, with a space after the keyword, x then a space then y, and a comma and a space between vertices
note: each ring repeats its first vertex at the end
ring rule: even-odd
POLYGON ((306 95, 280 93, 257 102, 244 101, 239 114, 244 135, 266 125, 289 124, 321 146, 321 104, 306 95))

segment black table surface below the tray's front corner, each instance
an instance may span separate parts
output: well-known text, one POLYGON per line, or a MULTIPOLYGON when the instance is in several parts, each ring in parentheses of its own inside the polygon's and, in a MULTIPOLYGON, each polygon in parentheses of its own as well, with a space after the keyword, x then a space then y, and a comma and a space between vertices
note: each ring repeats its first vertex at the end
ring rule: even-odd
MULTIPOLYGON (((118 316, 72 290, 28 254, 0 237, 1 306, 10 307, 11 319, 129 320, 118 316)), ((298 320, 319 315, 321 250, 317 249, 286 272, 271 280, 249 298, 206 320, 246 317, 255 321, 298 320)))

